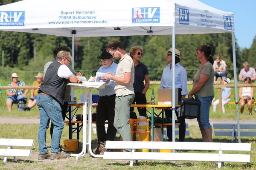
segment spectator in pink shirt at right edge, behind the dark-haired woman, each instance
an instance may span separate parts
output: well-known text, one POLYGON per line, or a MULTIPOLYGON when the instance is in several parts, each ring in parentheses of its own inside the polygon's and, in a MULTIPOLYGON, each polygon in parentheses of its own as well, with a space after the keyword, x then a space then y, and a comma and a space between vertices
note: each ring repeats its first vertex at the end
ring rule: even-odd
POLYGON ((244 81, 246 77, 250 77, 252 81, 256 79, 255 69, 250 67, 249 62, 243 63, 244 68, 239 73, 239 81, 244 81))

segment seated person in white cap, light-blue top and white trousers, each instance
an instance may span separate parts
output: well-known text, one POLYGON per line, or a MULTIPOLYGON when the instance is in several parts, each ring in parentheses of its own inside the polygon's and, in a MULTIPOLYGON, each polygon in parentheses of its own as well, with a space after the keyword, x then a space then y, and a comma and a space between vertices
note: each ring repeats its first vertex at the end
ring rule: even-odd
MULTIPOLYGON (((227 85, 230 84, 231 80, 229 78, 224 79, 223 84, 227 85)), ((222 96, 222 111, 225 113, 224 105, 226 105, 228 102, 230 102, 230 96, 231 96, 231 88, 221 88, 221 96, 222 96)), ((213 102, 213 111, 216 111, 216 107, 219 104, 219 100, 215 100, 213 102)))

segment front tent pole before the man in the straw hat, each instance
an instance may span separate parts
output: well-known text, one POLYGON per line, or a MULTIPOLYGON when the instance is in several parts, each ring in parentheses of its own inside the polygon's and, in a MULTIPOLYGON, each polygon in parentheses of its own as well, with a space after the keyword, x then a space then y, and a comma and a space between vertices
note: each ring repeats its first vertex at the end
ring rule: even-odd
POLYGON ((175 142, 175 105, 175 26, 172 26, 172 142, 175 142))

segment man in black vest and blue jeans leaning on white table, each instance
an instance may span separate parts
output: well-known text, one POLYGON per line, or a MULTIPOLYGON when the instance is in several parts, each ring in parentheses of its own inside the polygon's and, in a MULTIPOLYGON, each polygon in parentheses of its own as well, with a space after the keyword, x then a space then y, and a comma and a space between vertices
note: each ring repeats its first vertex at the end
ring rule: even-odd
POLYGON ((81 82, 67 67, 71 60, 70 52, 59 51, 57 61, 49 65, 44 80, 38 90, 37 105, 40 113, 38 129, 38 159, 66 159, 69 154, 61 151, 59 142, 64 128, 61 105, 64 104, 67 79, 73 83, 81 82), (49 120, 54 125, 52 133, 51 154, 46 146, 46 130, 49 120))

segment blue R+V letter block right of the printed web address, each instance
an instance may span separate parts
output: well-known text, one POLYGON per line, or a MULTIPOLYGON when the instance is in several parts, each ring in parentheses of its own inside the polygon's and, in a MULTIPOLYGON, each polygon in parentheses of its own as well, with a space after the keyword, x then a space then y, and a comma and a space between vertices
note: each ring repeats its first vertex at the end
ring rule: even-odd
POLYGON ((154 7, 153 10, 152 8, 134 8, 134 16, 133 18, 153 18, 155 12, 157 11, 157 7, 154 7), (146 14, 148 17, 146 17, 146 14))

